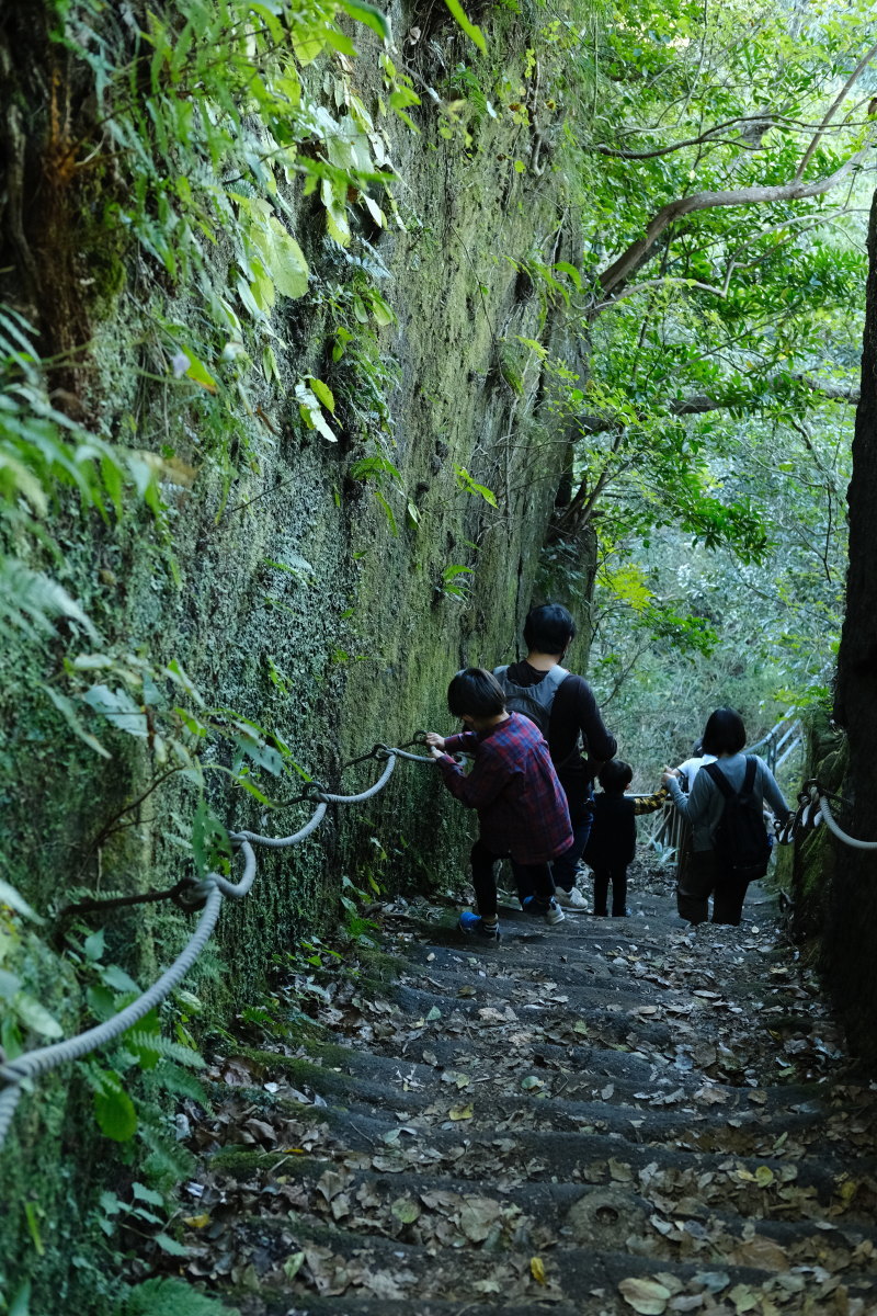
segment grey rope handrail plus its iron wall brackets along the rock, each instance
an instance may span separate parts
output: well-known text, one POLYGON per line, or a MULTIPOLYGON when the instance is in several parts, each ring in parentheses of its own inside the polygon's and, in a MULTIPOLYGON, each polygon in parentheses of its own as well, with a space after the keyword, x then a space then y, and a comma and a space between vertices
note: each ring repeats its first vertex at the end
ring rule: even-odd
MULTIPOLYGON (((409 741, 408 745, 422 745, 423 736, 425 732, 417 732, 414 740, 409 741)), ((146 895, 141 899, 156 900, 167 898, 175 900, 175 903, 180 904, 185 909, 200 908, 201 912, 195 932, 174 963, 170 969, 164 970, 158 982, 145 991, 142 996, 138 996, 137 1000, 131 1001, 130 1005, 126 1005, 125 1009, 120 1011, 118 1015, 113 1015, 112 1019, 105 1020, 103 1024, 97 1024, 95 1028, 87 1029, 84 1033, 78 1033, 76 1037, 64 1038, 60 1042, 53 1042, 50 1046, 41 1046, 33 1051, 26 1051, 14 1061, 8 1061, 7 1063, 0 1065, 0 1079, 3 1079, 7 1084, 0 1091, 0 1146, 3 1146, 7 1133, 9 1132, 9 1125, 22 1090, 26 1088, 30 1091, 34 1079, 41 1078, 50 1070, 58 1069, 59 1065, 80 1059, 83 1055, 88 1055, 91 1051, 95 1051, 100 1046, 105 1046, 108 1042, 120 1037, 121 1033, 137 1024, 145 1017, 145 1015, 149 1015, 150 1009, 159 1005, 174 991, 178 983, 183 980, 204 950, 213 929, 216 928, 220 911, 222 908, 222 900, 225 898, 230 900, 243 900, 251 890, 256 875, 256 857, 252 849, 254 845, 263 845, 268 849, 280 850, 304 841, 305 837, 317 830, 325 819, 330 804, 360 804, 363 800, 371 799, 372 795, 377 795, 377 792, 387 786, 393 775, 397 758, 406 758, 414 763, 433 762, 431 757, 406 753, 405 747, 396 749, 389 745, 375 745, 368 754, 362 754, 359 758, 344 763, 342 767, 343 771, 347 767, 352 767, 355 763, 363 763, 368 759, 387 759, 384 771, 375 784, 367 791, 360 791, 358 795, 334 795, 325 791, 318 782, 310 782, 308 783, 306 790, 301 795, 296 796, 295 800, 284 801, 284 807, 302 801, 316 803, 317 805, 305 825, 297 832, 293 832, 292 836, 272 837, 259 836, 256 832, 229 832, 229 838, 233 845, 237 846, 238 854, 243 859, 243 874, 238 882, 231 882, 220 873, 209 873, 202 882, 196 883, 184 880, 167 891, 146 892, 146 895)), ((71 907, 67 912, 78 911, 80 908, 95 909, 109 905, 130 905, 137 899, 138 898, 133 896, 122 896, 116 900, 91 900, 84 901, 83 907, 71 907)))

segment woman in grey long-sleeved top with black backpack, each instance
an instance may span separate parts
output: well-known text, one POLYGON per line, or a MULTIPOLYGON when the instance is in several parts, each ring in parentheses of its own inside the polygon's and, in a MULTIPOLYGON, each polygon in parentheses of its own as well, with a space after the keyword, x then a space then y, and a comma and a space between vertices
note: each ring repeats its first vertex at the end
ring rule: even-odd
POLYGON ((692 863, 676 888, 680 917, 705 923, 713 896, 713 923, 739 924, 749 882, 763 878, 770 858, 764 804, 785 822, 789 807, 773 772, 744 754, 746 726, 732 708, 717 708, 703 729, 702 751, 715 762, 699 769, 690 795, 676 772, 664 772, 673 804, 692 825, 692 863))

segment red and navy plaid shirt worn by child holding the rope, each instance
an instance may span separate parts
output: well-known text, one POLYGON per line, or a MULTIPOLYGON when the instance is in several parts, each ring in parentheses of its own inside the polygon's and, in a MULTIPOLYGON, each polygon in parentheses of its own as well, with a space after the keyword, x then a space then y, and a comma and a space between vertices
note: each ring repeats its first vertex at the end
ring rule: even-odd
POLYGON ((567 796, 542 732, 522 713, 486 732, 444 738, 438 766, 451 795, 477 809, 481 840, 518 863, 544 863, 572 845, 567 796), (475 755, 467 774, 450 754, 475 755))

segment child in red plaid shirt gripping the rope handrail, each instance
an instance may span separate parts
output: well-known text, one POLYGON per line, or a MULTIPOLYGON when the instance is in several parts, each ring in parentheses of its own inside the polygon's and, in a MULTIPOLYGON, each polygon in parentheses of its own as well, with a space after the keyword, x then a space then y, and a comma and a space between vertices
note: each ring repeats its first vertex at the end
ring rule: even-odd
POLYGON ((504 855, 527 869, 527 913, 548 924, 563 911, 554 900, 550 861, 572 845, 567 796, 557 780, 548 745, 529 717, 509 713, 502 688, 489 671, 459 671, 447 704, 468 730, 459 736, 429 732, 426 742, 452 795, 479 815, 479 840, 472 846, 472 884, 479 913, 460 915, 460 928, 485 941, 500 940, 496 865, 504 855), (451 754, 472 754, 465 774, 451 754))

